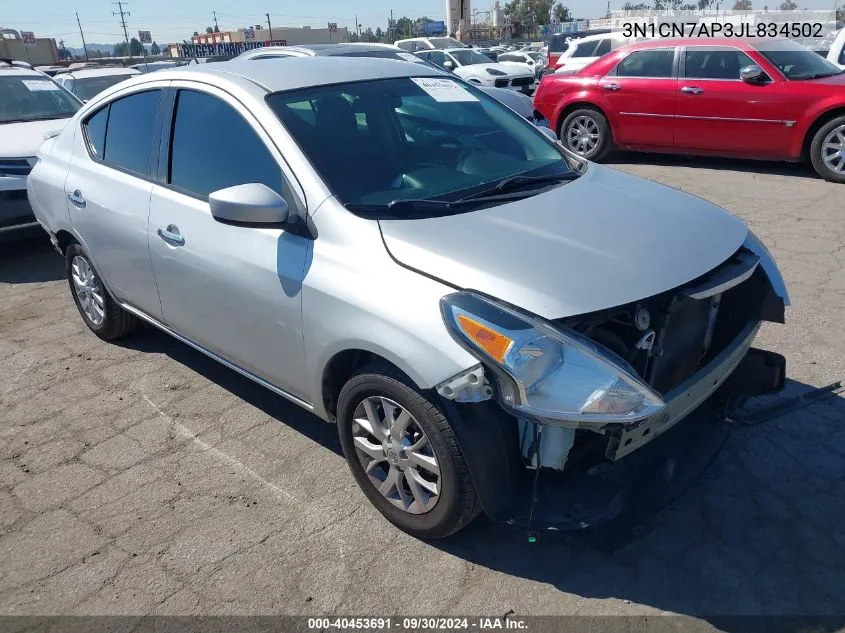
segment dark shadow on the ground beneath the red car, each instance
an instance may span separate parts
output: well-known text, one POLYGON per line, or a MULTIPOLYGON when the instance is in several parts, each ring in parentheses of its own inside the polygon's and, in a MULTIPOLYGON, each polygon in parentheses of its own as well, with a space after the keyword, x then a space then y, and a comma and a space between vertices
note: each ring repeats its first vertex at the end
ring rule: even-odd
POLYGON ((776 161, 749 160, 743 158, 718 158, 711 156, 689 156, 681 154, 651 154, 643 152, 616 151, 604 161, 605 165, 656 165, 660 167, 696 167, 771 176, 791 176, 820 180, 809 163, 785 163, 776 161))

